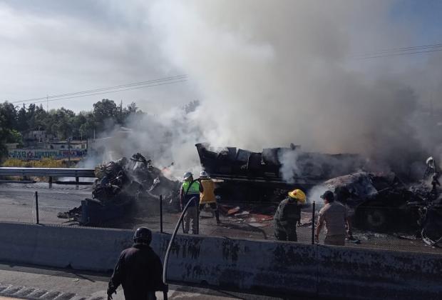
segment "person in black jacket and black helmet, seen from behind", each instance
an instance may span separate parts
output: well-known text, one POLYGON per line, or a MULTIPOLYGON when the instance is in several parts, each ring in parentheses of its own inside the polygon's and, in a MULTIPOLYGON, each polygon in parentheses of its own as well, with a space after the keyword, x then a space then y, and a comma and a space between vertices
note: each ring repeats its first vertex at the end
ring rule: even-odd
POLYGON ((152 231, 140 227, 133 236, 132 247, 121 252, 108 286, 108 300, 123 286, 126 300, 156 299, 155 291, 167 291, 163 284, 163 264, 150 248, 152 231))

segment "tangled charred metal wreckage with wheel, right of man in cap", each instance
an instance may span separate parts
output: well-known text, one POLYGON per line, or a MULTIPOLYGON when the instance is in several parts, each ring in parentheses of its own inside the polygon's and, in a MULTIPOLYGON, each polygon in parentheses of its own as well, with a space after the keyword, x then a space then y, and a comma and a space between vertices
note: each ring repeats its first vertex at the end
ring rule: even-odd
POLYGON ((345 204, 355 226, 384 232, 417 232, 426 244, 442 241, 442 195, 423 180, 406 185, 394 174, 359 172, 325 181, 324 189, 334 191, 345 204))

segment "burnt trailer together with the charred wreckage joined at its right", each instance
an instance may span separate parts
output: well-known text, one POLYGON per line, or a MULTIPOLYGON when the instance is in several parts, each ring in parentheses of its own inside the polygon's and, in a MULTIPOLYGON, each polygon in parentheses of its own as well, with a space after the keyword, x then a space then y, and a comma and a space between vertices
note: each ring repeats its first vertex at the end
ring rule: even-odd
POLYGON ((221 199, 273 202, 294 188, 304 189, 307 195, 315 189, 329 189, 347 206, 356 227, 416 231, 431 246, 442 240, 442 195, 437 190, 439 171, 433 158, 427 160, 424 179, 407 185, 394 173, 365 171, 364 159, 351 154, 309 153, 294 145, 260 153, 195 146, 202 168, 217 179, 221 199), (287 169, 284 164, 291 165, 287 169))

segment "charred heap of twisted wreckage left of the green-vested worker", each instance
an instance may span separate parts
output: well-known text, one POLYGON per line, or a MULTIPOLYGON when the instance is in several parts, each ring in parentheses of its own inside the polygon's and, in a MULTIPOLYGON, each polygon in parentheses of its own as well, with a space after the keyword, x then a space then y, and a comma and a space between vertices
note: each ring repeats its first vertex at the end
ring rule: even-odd
POLYGON ((158 203, 160 195, 165 201, 176 197, 180 184, 163 176, 152 161, 139 153, 130 159, 123 157, 101 164, 96 167, 95 174, 92 198, 81 201, 81 206, 59 213, 59 218, 81 225, 130 219, 136 214, 148 213, 151 209, 148 204, 158 203))

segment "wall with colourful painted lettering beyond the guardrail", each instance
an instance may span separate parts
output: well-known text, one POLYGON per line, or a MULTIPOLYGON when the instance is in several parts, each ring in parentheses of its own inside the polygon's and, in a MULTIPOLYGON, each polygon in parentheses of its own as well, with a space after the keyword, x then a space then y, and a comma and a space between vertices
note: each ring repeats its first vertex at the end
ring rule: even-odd
MULTIPOLYGON (((86 149, 71 149, 71 158, 81 158, 86 156, 86 149)), ((10 159, 67 159, 69 150, 51 150, 51 149, 10 149, 10 159)))

